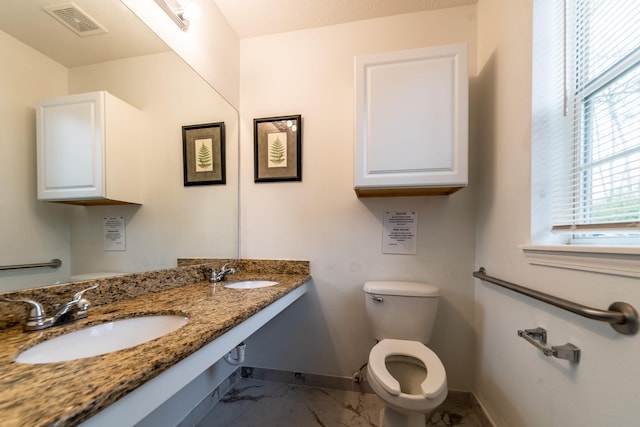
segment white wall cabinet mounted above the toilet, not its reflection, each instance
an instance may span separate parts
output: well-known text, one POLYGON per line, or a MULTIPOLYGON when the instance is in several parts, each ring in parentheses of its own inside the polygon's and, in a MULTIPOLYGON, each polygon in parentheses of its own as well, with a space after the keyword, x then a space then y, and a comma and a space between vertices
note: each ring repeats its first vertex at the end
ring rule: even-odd
POLYGON ((447 195, 468 183, 464 44, 355 59, 359 197, 447 195))

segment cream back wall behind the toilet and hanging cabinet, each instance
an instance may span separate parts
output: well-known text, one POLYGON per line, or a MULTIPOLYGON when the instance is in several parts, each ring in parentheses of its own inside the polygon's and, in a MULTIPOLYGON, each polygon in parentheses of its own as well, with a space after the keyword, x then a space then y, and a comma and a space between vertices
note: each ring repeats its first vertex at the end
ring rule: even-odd
POLYGON ((475 64, 475 34, 466 6, 241 40, 241 257, 310 260, 314 283, 247 342, 248 365, 350 376, 375 342, 363 282, 426 281, 442 289, 431 347, 450 387, 471 389, 475 182, 449 197, 359 200, 353 61, 467 42, 475 64), (303 120, 302 182, 254 183, 252 120, 291 114, 303 120), (418 253, 383 255, 382 212, 405 209, 418 212, 418 253))

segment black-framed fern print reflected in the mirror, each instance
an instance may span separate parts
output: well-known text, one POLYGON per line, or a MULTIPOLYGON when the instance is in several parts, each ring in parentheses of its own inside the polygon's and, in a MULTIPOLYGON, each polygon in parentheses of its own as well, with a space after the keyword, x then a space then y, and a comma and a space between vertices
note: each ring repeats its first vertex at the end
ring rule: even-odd
POLYGON ((224 122, 182 126, 184 185, 226 184, 224 122))

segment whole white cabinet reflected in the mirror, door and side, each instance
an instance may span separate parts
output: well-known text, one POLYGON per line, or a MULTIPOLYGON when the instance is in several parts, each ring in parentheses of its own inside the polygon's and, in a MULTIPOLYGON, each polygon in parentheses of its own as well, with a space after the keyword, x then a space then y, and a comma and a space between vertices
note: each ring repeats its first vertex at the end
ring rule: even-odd
POLYGON ((40 101, 38 200, 142 204, 140 110, 108 92, 40 101))

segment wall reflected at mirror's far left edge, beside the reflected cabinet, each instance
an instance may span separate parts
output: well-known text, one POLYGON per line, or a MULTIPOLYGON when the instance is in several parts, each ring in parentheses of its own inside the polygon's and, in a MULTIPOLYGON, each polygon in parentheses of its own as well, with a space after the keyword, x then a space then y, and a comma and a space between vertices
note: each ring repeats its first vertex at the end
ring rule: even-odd
POLYGON ((0 265, 62 261, 59 269, 0 271, 0 292, 69 276, 68 207, 36 201, 36 101, 67 93, 67 69, 0 31, 0 265))

